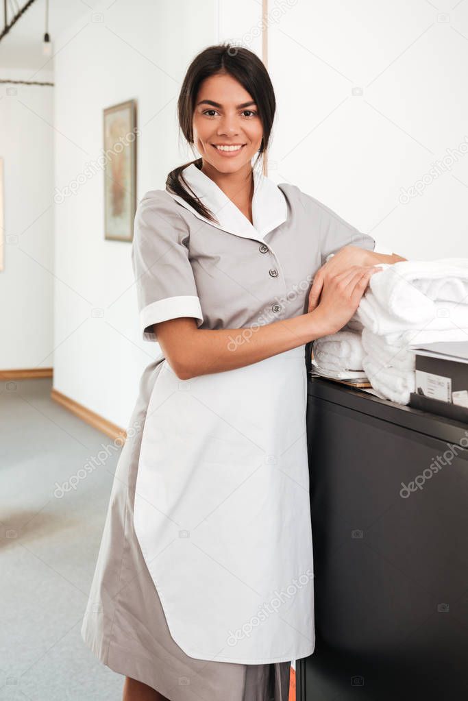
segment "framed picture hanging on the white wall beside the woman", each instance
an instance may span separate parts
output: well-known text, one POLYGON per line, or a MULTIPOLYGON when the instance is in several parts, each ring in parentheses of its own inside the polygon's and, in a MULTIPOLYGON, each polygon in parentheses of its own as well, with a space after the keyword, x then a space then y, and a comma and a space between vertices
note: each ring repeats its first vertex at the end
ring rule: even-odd
POLYGON ((133 240, 137 187, 137 103, 104 109, 104 238, 133 240))

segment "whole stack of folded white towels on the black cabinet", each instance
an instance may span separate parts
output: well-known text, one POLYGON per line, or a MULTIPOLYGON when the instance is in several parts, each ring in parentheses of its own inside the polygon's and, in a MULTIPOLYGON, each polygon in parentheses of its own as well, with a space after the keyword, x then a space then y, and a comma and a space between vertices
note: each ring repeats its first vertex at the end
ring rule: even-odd
POLYGON ((468 259, 379 264, 355 315, 312 344, 325 372, 364 370, 376 393, 408 404, 415 391, 415 346, 466 341, 468 259))

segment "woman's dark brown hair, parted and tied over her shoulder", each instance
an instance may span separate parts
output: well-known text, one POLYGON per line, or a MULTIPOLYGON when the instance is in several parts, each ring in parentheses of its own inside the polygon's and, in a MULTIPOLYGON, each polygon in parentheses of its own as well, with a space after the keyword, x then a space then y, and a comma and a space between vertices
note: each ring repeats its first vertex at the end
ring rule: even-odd
MULTIPOLYGON (((252 100, 255 101, 259 109, 259 117, 263 127, 263 138, 261 139, 259 155, 254 162, 255 166, 259 158, 263 158, 268 147, 273 118, 275 117, 276 100, 273 85, 266 67, 259 57, 249 49, 243 48, 242 46, 233 46, 233 44, 230 43, 221 43, 216 46, 209 46, 195 56, 187 69, 179 94, 179 100, 177 101, 179 128, 188 144, 193 147, 193 113, 195 111, 195 100, 197 99, 198 90, 202 81, 216 74, 229 74, 233 76, 233 78, 239 81, 242 87, 247 90, 249 95, 252 96, 252 100)), ((189 161, 171 170, 169 175, 167 175, 166 189, 184 198, 186 203, 191 205, 202 217, 219 224, 216 217, 203 205, 181 175, 181 171, 188 165, 191 165, 191 163, 194 163, 197 168, 201 168, 202 158, 189 161), (190 194, 188 190, 190 190, 192 194, 190 194)))

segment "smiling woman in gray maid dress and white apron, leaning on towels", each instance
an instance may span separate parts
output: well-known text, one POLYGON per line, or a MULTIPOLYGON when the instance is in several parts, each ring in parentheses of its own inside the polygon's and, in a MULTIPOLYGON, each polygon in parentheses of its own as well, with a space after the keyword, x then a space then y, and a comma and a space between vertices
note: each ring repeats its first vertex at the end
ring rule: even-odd
POLYGON ((162 353, 82 635, 126 676, 125 701, 287 701, 290 662, 315 645, 305 344, 343 327, 373 264, 399 257, 255 170, 275 96, 254 53, 202 51, 178 111, 201 157, 135 216, 140 327, 162 353))

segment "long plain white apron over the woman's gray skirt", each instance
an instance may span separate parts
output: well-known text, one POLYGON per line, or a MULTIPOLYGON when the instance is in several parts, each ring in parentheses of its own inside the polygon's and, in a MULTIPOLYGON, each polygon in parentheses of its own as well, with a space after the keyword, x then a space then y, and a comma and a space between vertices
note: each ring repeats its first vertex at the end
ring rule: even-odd
POLYGON ((156 379, 135 532, 192 657, 260 664, 314 650, 304 353, 184 381, 164 360, 156 379))

